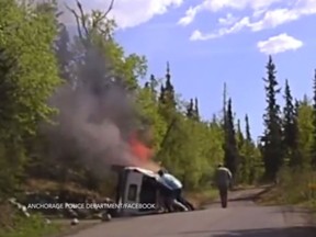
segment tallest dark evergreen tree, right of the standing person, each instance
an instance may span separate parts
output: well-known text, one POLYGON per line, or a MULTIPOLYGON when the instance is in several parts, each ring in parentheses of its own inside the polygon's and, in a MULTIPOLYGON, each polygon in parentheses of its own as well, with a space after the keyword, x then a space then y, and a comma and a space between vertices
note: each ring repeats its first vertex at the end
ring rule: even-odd
POLYGON ((262 157, 266 169, 266 178, 275 180, 276 173, 283 165, 282 149, 282 125, 280 117, 280 105, 276 102, 276 94, 280 93, 276 81, 276 70, 272 57, 269 56, 267 64, 268 78, 266 82, 267 103, 264 120, 264 135, 262 137, 262 157))

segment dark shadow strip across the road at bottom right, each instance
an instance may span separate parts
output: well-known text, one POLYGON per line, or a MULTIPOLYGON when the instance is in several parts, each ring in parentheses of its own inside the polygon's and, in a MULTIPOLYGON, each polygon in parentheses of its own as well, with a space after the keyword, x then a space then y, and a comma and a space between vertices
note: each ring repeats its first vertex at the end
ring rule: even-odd
POLYGON ((208 237, 316 237, 316 227, 266 228, 224 232, 185 232, 182 235, 210 234, 208 237), (218 234, 221 233, 221 234, 218 234), (223 234, 222 234, 223 233, 223 234))

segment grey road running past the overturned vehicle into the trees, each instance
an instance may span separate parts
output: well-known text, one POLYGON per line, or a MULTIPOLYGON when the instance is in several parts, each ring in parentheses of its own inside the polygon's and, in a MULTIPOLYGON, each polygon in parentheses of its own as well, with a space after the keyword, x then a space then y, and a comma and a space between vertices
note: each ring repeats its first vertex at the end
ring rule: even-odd
POLYGON ((316 237, 303 211, 257 206, 249 198, 261 191, 234 192, 237 201, 225 210, 215 203, 203 211, 117 219, 71 237, 316 237))

